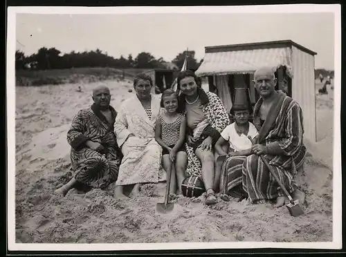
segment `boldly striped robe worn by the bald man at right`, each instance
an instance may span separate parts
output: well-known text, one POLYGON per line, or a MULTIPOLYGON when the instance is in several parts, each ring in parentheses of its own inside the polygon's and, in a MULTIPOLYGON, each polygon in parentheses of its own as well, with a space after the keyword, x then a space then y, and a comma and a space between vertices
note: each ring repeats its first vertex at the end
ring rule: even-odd
MULTIPOLYGON (((299 104, 291 97, 279 92, 279 97, 268 111, 261 126, 259 111, 263 99, 254 108, 254 120, 259 135, 257 143, 268 147, 270 153, 262 155, 271 165, 289 193, 293 192, 293 176, 302 167, 307 149, 303 144, 303 115, 299 104)), ((272 200, 284 196, 266 164, 258 155, 239 156, 224 163, 228 172, 228 193, 244 193, 251 202, 272 200)))

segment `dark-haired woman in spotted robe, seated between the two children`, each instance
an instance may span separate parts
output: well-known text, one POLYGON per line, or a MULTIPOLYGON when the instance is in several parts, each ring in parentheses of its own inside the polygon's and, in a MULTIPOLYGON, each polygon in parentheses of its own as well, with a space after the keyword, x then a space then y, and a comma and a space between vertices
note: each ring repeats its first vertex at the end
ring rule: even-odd
POLYGON ((214 146, 220 133, 230 124, 230 118, 221 99, 215 93, 203 91, 199 78, 191 70, 179 73, 177 88, 181 91, 179 100, 186 113, 187 173, 202 178, 206 204, 215 204, 214 146))

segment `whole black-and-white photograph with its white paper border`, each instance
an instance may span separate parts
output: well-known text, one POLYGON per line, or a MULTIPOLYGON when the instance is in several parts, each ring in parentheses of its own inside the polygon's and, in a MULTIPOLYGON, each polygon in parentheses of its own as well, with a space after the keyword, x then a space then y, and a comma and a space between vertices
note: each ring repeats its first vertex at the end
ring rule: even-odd
POLYGON ((340 240, 340 9, 279 7, 14 9, 15 245, 340 240))

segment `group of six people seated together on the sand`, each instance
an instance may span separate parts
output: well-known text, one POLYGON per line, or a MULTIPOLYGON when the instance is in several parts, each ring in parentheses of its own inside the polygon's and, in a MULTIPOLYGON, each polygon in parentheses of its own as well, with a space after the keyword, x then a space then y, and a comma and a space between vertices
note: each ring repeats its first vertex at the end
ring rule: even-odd
POLYGON ((151 77, 140 73, 134 79, 136 95, 118 111, 110 106, 109 88, 95 88, 91 108, 79 111, 67 133, 73 178, 56 192, 65 196, 76 182, 105 188, 115 181, 115 198, 127 197, 127 185, 133 185, 129 196, 134 197, 141 185, 163 182, 171 170, 171 197, 182 193, 186 177, 196 175, 206 188, 206 204, 217 203, 217 193, 224 191, 253 203, 276 200, 280 207, 285 197, 259 158, 263 155, 293 198, 304 202, 293 180, 306 153, 302 110, 275 91, 271 68, 254 75, 261 97, 253 123, 248 122, 251 107, 233 106, 230 124, 221 99, 203 91, 192 71, 179 73, 177 84, 180 94, 167 89, 159 98, 151 93, 151 77), (224 162, 216 162, 219 155, 226 155, 224 162))

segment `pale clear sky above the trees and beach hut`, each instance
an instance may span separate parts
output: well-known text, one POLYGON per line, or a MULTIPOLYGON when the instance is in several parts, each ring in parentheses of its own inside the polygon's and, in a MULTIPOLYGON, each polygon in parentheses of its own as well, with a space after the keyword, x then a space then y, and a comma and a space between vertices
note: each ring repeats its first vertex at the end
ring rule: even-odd
POLYGON ((291 39, 318 53, 315 67, 334 69, 334 13, 17 14, 16 48, 63 54, 99 48, 115 58, 149 52, 172 61, 187 48, 199 61, 205 46, 291 39))

